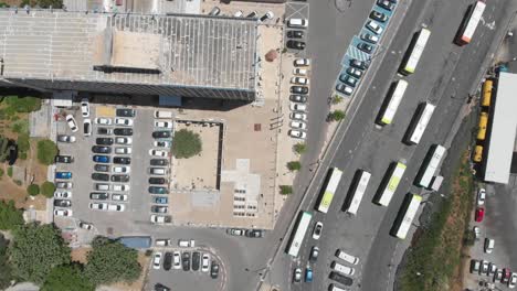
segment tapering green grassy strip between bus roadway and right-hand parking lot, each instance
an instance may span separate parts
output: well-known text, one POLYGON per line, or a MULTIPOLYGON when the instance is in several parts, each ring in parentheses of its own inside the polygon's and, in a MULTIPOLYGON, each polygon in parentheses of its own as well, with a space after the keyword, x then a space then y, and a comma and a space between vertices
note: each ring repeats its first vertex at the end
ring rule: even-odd
POLYGON ((469 171, 468 151, 451 180, 450 195, 435 212, 431 223, 413 244, 402 270, 400 290, 449 290, 461 262, 473 207, 474 181, 469 171))

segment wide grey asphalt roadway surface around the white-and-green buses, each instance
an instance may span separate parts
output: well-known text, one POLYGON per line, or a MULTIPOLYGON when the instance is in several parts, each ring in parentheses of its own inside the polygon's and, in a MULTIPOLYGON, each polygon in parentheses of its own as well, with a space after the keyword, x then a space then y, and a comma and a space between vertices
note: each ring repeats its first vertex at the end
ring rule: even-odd
MULTIPOLYGON (((421 191, 412 186, 423 157, 433 143, 445 142, 458 112, 466 101, 467 95, 473 93, 476 82, 481 77, 479 68, 486 56, 504 34, 502 28, 514 11, 510 1, 494 1, 488 4, 483 24, 478 26, 473 42, 458 47, 452 43, 454 34, 472 1, 413 1, 393 42, 387 47, 387 56, 368 87, 346 137, 337 140, 338 148, 335 157, 324 160, 323 169, 339 166, 345 176, 338 188, 338 195, 327 215, 316 214, 315 220, 324 222, 324 234, 317 245, 320 258, 313 266, 315 282, 300 284, 293 289, 325 290, 329 283, 327 274, 334 252, 344 248, 352 255, 359 256, 361 262, 357 268, 356 289, 389 290, 392 289, 395 266, 407 241, 401 242, 389 235, 397 212, 404 194, 421 191), (373 126, 373 119, 392 79, 399 78, 395 71, 408 47, 409 41, 421 24, 432 30, 416 73, 407 77, 410 86, 404 100, 399 108, 392 125, 382 130, 373 126), (401 139, 408 129, 416 106, 422 101, 437 105, 426 132, 418 147, 408 147, 401 139), (371 203, 380 180, 386 174, 388 165, 397 160, 408 162, 408 170, 397 194, 389 207, 376 206, 371 203), (367 195, 363 198, 359 215, 348 217, 339 212, 349 188, 351 177, 357 169, 365 169, 372 173, 367 195), (404 245, 405 244, 405 245, 404 245), (358 288, 360 284, 360 288, 358 288)), ((314 9, 310 15, 314 17, 314 9)), ((314 23, 314 22, 313 22, 314 23)), ((314 40, 313 40, 314 41, 314 40)), ((323 52, 325 54, 325 52, 323 52)), ((315 62, 315 67, 317 63, 315 62)), ((314 76, 317 76, 314 74, 314 76)), ((319 79, 319 78, 318 78, 319 79)), ((313 122, 314 123, 314 122, 313 122)), ((333 144, 334 146, 334 144, 333 144)), ((320 185, 325 171, 317 175, 316 185, 320 185)), ((319 187, 312 188, 304 201, 305 209, 314 206, 315 196, 319 187)), ((409 240, 409 239, 408 239, 409 240)), ((267 277, 283 290, 289 290, 288 281, 295 266, 305 267, 308 250, 316 241, 306 239, 298 261, 292 261, 287 255, 281 254, 274 262, 273 276, 267 277), (278 276, 281 273, 282 276, 278 276), (276 276, 275 276, 276 274, 276 276), (283 279, 282 279, 283 278, 283 279)))

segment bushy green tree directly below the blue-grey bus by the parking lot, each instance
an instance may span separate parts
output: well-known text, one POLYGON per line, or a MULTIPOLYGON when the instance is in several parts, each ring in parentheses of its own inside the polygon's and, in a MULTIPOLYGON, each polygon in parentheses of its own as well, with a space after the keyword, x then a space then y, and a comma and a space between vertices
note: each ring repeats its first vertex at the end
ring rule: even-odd
POLYGON ((84 268, 84 274, 95 285, 119 281, 133 282, 140 276, 141 266, 135 249, 103 237, 95 238, 92 247, 87 255, 88 263, 84 268))

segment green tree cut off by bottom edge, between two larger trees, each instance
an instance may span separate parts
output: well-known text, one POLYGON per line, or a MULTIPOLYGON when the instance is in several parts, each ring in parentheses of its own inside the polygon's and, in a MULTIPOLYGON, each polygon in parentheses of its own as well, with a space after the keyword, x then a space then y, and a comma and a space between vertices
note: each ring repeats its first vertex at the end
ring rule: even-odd
POLYGON ((49 273, 41 291, 93 291, 78 263, 57 266, 49 273))

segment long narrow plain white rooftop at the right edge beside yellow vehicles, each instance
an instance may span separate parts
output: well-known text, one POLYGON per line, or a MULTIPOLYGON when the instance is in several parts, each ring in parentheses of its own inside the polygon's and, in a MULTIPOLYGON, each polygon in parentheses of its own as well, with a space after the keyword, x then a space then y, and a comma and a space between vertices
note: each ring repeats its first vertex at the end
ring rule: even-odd
POLYGON ((500 73, 495 107, 492 114, 492 133, 485 166, 485 181, 507 184, 514 154, 517 128, 517 74, 500 73))

